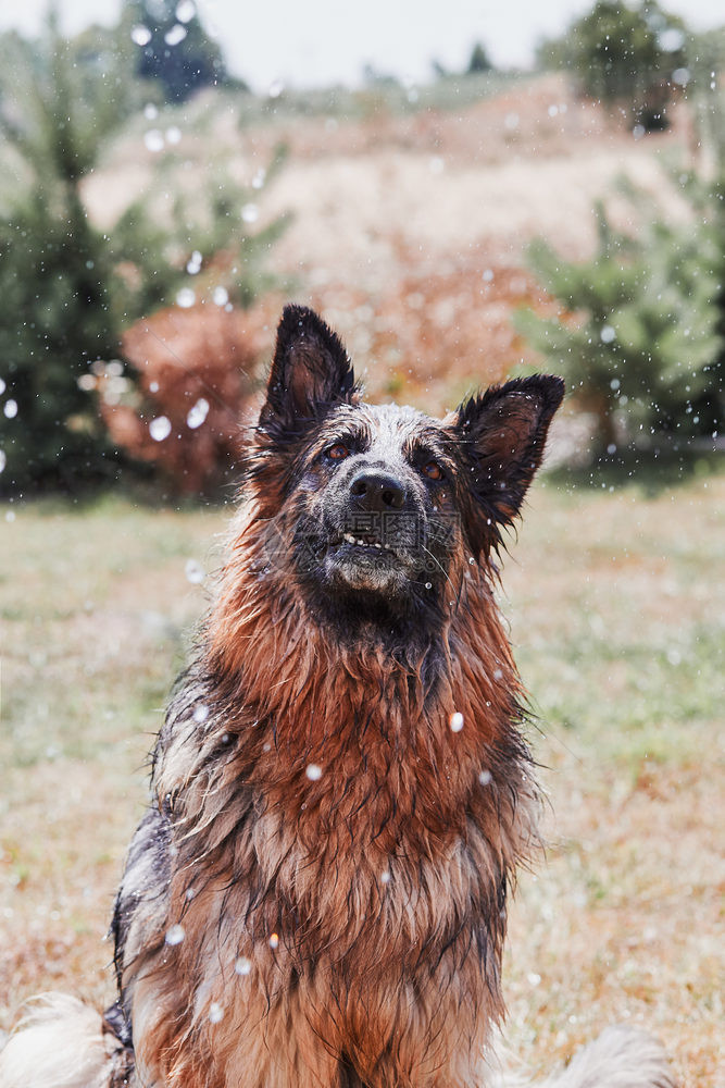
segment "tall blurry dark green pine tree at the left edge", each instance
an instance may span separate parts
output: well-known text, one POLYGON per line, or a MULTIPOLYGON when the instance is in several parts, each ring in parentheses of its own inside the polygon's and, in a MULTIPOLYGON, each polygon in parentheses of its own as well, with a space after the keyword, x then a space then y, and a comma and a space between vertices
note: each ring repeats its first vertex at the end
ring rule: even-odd
POLYGON ((3 88, 0 112, 4 158, 16 175, 0 227, 0 485, 16 491, 113 471, 83 374, 116 351, 117 335, 103 238, 79 196, 105 132, 76 97, 78 73, 54 23, 42 52, 14 45, 13 98, 3 88))

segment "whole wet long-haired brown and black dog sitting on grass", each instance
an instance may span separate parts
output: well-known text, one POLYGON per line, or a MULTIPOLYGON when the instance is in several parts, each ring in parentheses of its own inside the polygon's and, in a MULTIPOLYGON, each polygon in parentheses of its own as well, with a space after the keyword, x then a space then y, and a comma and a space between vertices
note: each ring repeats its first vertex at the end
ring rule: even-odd
MULTIPOLYGON (((563 393, 372 406, 338 336, 285 309, 115 902, 117 1001, 32 1003, 1 1088, 508 1083, 507 900, 539 794, 495 559, 563 393)), ((673 1081, 612 1028, 547 1084, 673 1081)))

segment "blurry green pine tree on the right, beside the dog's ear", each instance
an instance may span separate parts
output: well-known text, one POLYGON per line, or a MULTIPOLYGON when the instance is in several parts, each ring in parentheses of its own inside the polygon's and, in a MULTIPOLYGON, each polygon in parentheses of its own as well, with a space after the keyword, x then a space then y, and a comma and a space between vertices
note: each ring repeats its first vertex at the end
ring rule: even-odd
MULTIPOLYGON (((632 194, 634 196, 634 194, 632 194)), ((543 242, 529 260, 562 304, 560 319, 520 314, 518 327, 567 379, 598 423, 597 453, 630 441, 709 435, 722 416, 722 210, 689 226, 646 224, 635 239, 597 209, 599 244, 587 262, 564 261, 543 242)))

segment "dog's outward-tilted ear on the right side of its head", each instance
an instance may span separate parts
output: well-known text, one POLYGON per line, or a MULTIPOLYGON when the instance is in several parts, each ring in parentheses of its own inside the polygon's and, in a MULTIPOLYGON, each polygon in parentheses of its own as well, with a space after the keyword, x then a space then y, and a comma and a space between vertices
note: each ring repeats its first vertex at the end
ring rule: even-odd
POLYGON ((535 374, 492 386, 459 408, 453 429, 487 523, 509 526, 518 514, 563 396, 561 378, 535 374))

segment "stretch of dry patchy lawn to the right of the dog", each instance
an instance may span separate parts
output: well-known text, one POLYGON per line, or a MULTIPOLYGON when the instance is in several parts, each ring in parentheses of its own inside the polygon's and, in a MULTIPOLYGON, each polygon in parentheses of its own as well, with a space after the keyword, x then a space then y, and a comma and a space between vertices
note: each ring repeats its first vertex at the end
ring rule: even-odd
POLYGON ((512 914, 511 1035, 542 1068, 627 1019, 684 1086, 722 1075, 723 498, 722 478, 539 494, 509 564, 551 800, 512 914))

